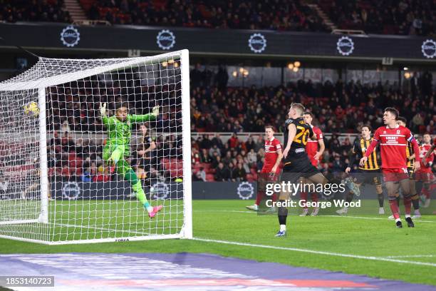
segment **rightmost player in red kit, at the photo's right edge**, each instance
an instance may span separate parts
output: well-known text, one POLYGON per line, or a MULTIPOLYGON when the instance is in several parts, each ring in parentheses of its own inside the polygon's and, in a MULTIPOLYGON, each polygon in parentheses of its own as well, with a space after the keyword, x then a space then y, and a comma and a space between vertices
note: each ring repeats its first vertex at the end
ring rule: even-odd
POLYGON ((424 136, 422 136, 422 141, 424 141, 424 143, 420 146, 421 168, 416 173, 416 180, 422 182, 421 198, 425 201, 422 207, 427 208, 430 206, 430 185, 435 180, 435 176, 432 172, 432 164, 435 159, 435 154, 433 153, 434 149, 432 150, 432 148, 434 148, 435 145, 433 144, 432 146, 430 144, 432 138, 429 133, 425 133, 424 136))

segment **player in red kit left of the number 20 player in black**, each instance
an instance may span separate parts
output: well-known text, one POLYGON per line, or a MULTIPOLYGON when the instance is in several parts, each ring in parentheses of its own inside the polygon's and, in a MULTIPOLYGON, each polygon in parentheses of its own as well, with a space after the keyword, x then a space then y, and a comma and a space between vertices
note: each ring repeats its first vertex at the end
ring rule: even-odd
MULTIPOLYGON (((281 152, 281 144, 277 138, 274 138, 274 128, 272 126, 265 126, 265 162, 264 167, 258 178, 258 183, 261 182, 275 182, 279 177, 280 163, 283 153, 281 152)), ((258 192, 256 203, 254 205, 246 206, 249 210, 258 211, 262 198, 264 198, 264 187, 258 185, 258 192)), ((276 201, 276 194, 273 194, 272 200, 276 201)), ((274 210, 274 209, 273 209, 274 210)))

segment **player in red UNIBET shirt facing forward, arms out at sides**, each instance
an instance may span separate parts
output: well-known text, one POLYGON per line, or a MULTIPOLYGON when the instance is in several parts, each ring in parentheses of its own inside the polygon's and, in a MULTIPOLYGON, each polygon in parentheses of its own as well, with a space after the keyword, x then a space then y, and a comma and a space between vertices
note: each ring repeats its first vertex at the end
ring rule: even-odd
POLYGON ((397 228, 403 228, 396 201, 396 197, 399 195, 398 191, 401 188, 404 196, 405 220, 408 223, 408 227, 413 228, 415 225, 410 217, 412 200, 408 165, 406 163, 407 142, 409 141, 412 144, 416 155, 415 170, 420 168, 420 148, 410 130, 397 124, 398 116, 397 109, 392 107, 385 108, 385 113, 383 113, 383 123, 385 123, 385 126, 381 126, 375 131, 373 142, 366 150, 363 158, 360 159, 360 165, 365 164, 368 156, 373 153, 375 146, 380 144, 383 179, 388 190, 389 205, 395 218, 395 225, 397 228))

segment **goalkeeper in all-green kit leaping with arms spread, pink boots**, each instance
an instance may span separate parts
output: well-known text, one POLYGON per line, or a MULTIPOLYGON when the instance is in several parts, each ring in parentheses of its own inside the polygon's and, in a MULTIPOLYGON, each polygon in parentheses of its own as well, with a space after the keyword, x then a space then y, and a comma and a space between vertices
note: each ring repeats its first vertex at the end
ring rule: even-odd
POLYGON ((154 218, 156 213, 162 209, 162 205, 155 207, 150 205, 145 197, 141 181, 125 158, 130 155, 132 123, 155 120, 159 115, 159 106, 155 106, 150 114, 130 115, 128 114, 128 107, 120 103, 115 108, 115 116, 108 117, 106 103, 100 103, 100 114, 103 124, 108 130, 108 140, 103 148, 103 160, 110 165, 115 165, 116 173, 122 175, 130 183, 137 199, 147 209, 148 216, 154 218))

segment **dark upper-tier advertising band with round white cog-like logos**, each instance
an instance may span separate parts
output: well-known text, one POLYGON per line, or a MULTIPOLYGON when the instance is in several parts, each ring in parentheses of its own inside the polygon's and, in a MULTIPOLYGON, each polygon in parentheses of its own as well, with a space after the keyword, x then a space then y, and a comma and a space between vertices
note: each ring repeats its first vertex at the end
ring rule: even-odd
POLYGON ((162 53, 188 48, 212 56, 265 56, 307 58, 382 58, 433 61, 435 42, 420 36, 343 36, 321 33, 183 29, 149 26, 66 26, 65 24, 0 24, 7 40, 0 48, 162 53))

